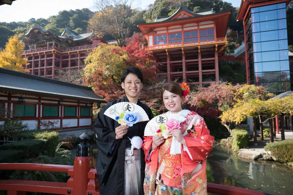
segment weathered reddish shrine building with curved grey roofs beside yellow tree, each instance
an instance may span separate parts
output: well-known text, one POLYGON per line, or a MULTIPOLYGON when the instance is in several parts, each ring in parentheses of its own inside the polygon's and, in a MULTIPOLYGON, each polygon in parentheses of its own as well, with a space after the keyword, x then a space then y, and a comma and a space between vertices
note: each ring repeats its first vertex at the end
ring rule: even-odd
POLYGON ((58 70, 85 67, 83 61, 88 52, 98 44, 106 43, 93 38, 93 32, 76 33, 69 28, 56 35, 42 27, 33 27, 23 37, 29 48, 23 51, 23 57, 27 57, 29 63, 25 69, 33 75, 52 79, 58 70))

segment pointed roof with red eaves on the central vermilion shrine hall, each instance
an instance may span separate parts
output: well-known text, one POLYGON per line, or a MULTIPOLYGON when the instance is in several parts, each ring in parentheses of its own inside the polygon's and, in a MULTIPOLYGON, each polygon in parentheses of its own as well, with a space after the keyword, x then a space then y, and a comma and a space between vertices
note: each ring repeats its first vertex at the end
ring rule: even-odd
POLYGON ((157 17, 154 22, 137 24, 137 26, 145 36, 148 36, 149 33, 155 32, 154 28, 157 27, 180 25, 184 23, 193 23, 206 20, 215 20, 217 26, 217 37, 225 37, 230 15, 231 10, 222 11, 219 13, 215 13, 213 9, 192 12, 181 4, 178 10, 171 16, 157 17))

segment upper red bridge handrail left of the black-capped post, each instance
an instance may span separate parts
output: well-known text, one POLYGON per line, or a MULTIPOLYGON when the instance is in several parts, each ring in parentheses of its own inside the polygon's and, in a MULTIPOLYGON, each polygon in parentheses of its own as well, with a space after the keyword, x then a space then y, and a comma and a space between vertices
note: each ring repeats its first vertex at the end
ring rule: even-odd
POLYGON ((54 171, 68 172, 73 166, 51 165, 51 164, 30 164, 30 163, 0 163, 0 170, 29 170, 29 171, 54 171))

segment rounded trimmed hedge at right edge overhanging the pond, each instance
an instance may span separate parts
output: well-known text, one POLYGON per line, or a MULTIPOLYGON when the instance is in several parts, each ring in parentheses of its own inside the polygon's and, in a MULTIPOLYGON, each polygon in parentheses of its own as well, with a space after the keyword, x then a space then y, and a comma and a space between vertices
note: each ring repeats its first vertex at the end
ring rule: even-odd
POLYGON ((273 142, 265 146, 266 151, 277 158, 280 163, 293 162, 293 139, 273 142))

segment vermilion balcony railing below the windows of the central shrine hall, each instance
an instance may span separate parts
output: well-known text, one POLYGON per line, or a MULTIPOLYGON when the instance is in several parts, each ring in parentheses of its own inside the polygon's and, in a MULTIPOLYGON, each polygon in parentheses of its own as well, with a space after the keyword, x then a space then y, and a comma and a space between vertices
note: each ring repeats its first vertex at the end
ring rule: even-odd
POLYGON ((200 46, 205 44, 217 44, 219 42, 227 42, 227 37, 224 38, 216 38, 216 39, 204 39, 204 40, 197 40, 197 41, 185 41, 185 42, 177 42, 177 43, 168 43, 168 44, 159 44, 159 45, 151 45, 145 46, 146 50, 153 50, 153 49, 167 49, 172 47, 182 47, 182 46, 200 46))

